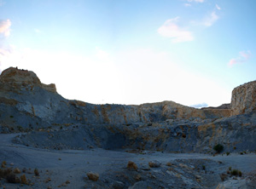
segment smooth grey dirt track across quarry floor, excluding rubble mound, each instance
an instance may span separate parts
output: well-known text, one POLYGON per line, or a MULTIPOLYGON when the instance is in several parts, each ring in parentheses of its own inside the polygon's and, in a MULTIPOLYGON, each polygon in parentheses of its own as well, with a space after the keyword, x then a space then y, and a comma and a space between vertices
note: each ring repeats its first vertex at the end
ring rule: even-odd
MULTIPOLYGON (((42 172, 38 178, 32 177, 33 174, 27 175, 34 182, 34 186, 22 186, 22 188, 45 188, 45 186, 56 188, 67 180, 71 184, 67 184, 66 188, 83 188, 86 182, 84 177, 86 177, 87 172, 94 171, 102 175, 109 170, 125 169, 128 161, 142 165, 147 164, 151 160, 158 160, 160 163, 166 164, 177 159, 212 159, 222 162, 222 166, 218 168, 209 168, 216 173, 223 173, 229 167, 241 169, 243 173, 256 169, 256 155, 253 153, 212 157, 196 153, 145 152, 140 154, 103 149, 53 151, 13 144, 11 140, 15 135, 19 134, 0 135, 1 162, 6 161, 8 165, 14 163, 14 166, 12 166, 14 168, 32 170, 37 168, 42 172), (50 181, 46 183, 45 180, 48 178, 50 178, 50 181)), ((2 183, 2 185, 8 186, 7 188, 18 188, 19 186, 6 183, 2 183)))

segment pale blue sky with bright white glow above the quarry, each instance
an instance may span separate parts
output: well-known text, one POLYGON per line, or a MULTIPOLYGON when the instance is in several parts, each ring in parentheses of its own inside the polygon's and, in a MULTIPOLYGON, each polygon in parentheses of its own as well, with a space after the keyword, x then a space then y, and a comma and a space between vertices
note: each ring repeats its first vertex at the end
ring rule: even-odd
POLYGON ((255 0, 0 0, 0 72, 70 100, 230 103, 255 80, 255 0))

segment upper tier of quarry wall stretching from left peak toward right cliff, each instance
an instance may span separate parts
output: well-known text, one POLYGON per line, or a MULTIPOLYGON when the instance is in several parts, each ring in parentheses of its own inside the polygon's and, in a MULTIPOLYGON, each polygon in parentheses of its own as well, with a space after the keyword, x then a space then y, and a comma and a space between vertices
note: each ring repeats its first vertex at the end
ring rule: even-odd
POLYGON ((2 72, 0 89, 2 125, 23 129, 64 123, 131 124, 230 116, 230 110, 199 110, 172 101, 123 106, 66 100, 56 93, 55 84, 45 85, 35 73, 13 67, 2 72))

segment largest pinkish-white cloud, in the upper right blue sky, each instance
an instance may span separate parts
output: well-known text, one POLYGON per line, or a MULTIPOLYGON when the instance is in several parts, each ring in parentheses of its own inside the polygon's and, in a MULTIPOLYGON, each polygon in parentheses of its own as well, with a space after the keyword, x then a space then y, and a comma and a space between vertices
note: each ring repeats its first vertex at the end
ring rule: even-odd
POLYGON ((170 20, 166 20, 163 26, 157 30, 163 37, 172 38, 172 43, 181 43, 187 41, 193 41, 194 37, 190 31, 187 31, 180 26, 177 26, 178 17, 170 20))

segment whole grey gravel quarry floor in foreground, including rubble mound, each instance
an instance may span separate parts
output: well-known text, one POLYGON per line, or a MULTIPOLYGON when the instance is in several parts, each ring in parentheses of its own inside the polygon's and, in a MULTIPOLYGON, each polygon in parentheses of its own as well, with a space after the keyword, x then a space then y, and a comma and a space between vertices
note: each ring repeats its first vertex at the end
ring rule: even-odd
MULTIPOLYGON (((12 139, 16 135, 20 134, 0 135, 0 161, 6 161, 2 170, 20 169, 21 173, 16 177, 26 175, 29 185, 10 184, 1 179, 0 188, 221 188, 220 185, 225 183, 234 184, 230 184, 229 180, 247 183, 247 180, 255 179, 254 153, 212 157, 198 153, 127 149, 54 151, 14 144, 12 139), (129 161, 135 163, 137 169, 127 169, 129 161), (152 161, 157 161, 159 165, 150 168, 148 163, 152 161), (230 168, 241 170, 242 176, 226 175, 222 182, 220 175, 226 174, 230 168), (35 176, 34 169, 38 169, 39 176, 35 176), (99 180, 89 180, 87 173, 90 171, 98 174, 99 180)), ((247 188, 254 186, 251 183, 247 188)))

